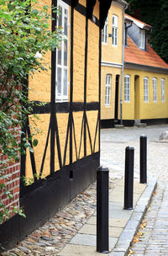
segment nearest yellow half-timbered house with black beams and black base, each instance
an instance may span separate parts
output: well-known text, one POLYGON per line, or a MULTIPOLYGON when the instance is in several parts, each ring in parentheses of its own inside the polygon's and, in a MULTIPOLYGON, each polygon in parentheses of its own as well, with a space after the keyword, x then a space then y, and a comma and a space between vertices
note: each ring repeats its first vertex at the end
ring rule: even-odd
POLYGON ((21 179, 20 205, 26 218, 13 216, 0 227, 5 248, 87 189, 99 166, 101 36, 111 0, 41 2, 60 8, 50 28, 62 27, 64 40, 45 56, 48 72, 29 77, 29 99, 37 104, 24 132, 33 133, 37 115, 39 143, 21 157, 20 176, 29 183, 25 186, 21 179))

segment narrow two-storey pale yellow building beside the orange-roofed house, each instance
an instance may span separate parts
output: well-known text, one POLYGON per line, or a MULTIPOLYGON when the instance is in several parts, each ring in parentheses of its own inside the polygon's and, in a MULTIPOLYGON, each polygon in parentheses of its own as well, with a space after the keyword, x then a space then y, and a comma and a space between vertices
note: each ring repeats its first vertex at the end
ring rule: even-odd
POLYGON ((123 69, 123 18, 128 4, 112 1, 102 30, 101 127, 113 127, 120 116, 123 69))

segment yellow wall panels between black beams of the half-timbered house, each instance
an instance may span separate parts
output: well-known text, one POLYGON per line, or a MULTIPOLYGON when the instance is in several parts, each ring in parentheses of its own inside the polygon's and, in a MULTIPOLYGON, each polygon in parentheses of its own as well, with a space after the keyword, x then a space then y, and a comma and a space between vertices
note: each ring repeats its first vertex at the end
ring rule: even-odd
MULTIPOLYGON (((46 2, 46 1, 45 1, 46 2)), ((97 0, 98 2, 98 0, 97 0)), ((86 1, 81 0, 81 4, 86 5, 86 1), (84 4, 85 3, 85 4, 84 4)), ((50 4, 48 0, 48 5, 50 4)), ((71 14, 71 7, 69 8, 71 14)), ((99 16, 99 3, 96 4, 94 8, 94 15, 99 16)), ((71 16, 71 15, 70 15, 71 16)), ((69 17, 71 20, 71 17, 69 17)), ((84 73, 85 73, 85 29, 86 29, 86 18, 81 15, 81 13, 74 12, 74 81, 73 81, 73 101, 74 102, 83 102, 84 101, 84 73)), ((69 36, 71 35, 71 27, 69 28, 69 36)), ((98 72, 98 57, 99 57, 99 28, 96 24, 88 21, 88 58, 87 58, 87 102, 98 102, 98 92, 99 92, 99 72, 98 72)), ((71 41, 69 40, 69 50, 71 41)), ((45 56, 46 62, 50 65, 51 54, 50 52, 45 56)), ((71 61, 70 51, 69 51, 69 63, 71 61)), ((31 88, 29 92, 30 100, 38 100, 42 102, 50 102, 50 69, 47 72, 41 72, 34 74, 33 79, 29 77, 29 87, 31 88)), ((70 82, 70 65, 69 65, 69 82, 70 82)), ((70 86, 69 86, 70 89, 70 86)), ((69 93, 70 98, 70 93, 69 93)), ((63 161, 64 149, 66 144, 66 130, 68 123, 67 113, 56 114, 59 136, 60 136, 60 149, 61 149, 61 159, 63 161)), ((97 125, 97 115, 98 111, 87 111, 87 120, 90 128, 92 146, 95 138, 95 131, 97 125)), ((35 136, 39 143, 37 147, 34 147, 34 158, 36 163, 37 173, 39 175, 39 170, 45 151, 45 143, 47 138, 47 133, 50 125, 50 114, 40 114, 38 115, 39 120, 35 120, 36 127, 39 128, 40 133, 35 136)), ((83 150, 83 137, 81 140, 81 122, 82 122, 83 112, 74 112, 74 125, 76 131, 76 148, 77 154, 79 153, 80 141, 81 141, 81 153, 80 158, 84 157, 83 150)), ((34 116, 29 116, 29 123, 34 126, 34 116)), ((33 128, 31 128, 33 132, 33 128)), ((98 151, 98 132, 96 136, 96 147, 95 152, 98 151)), ((87 156, 90 155, 91 147, 89 142, 89 136, 87 132, 87 156)), ((66 164, 69 164, 69 142, 67 146, 66 153, 66 164)), ((75 150, 75 141, 73 138, 73 162, 76 161, 76 150, 75 150)), ((55 138, 55 171, 59 170, 59 161, 57 155, 57 146, 55 138)), ((50 138, 47 147, 44 172, 42 178, 45 178, 50 174, 50 138)), ((27 150, 27 160, 26 160, 26 177, 31 179, 33 178, 32 168, 29 157, 29 150, 27 150)))

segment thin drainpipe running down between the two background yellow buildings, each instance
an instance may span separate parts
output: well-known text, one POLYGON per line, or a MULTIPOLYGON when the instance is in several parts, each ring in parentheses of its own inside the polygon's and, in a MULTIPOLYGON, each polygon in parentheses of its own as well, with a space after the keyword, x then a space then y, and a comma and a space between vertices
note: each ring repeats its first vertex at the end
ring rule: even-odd
POLYGON ((121 93, 120 93, 120 125, 123 125, 123 66, 124 66, 124 47, 125 47, 125 24, 124 16, 125 10, 128 8, 128 5, 125 5, 123 8, 123 56, 122 56, 122 71, 121 71, 121 93))

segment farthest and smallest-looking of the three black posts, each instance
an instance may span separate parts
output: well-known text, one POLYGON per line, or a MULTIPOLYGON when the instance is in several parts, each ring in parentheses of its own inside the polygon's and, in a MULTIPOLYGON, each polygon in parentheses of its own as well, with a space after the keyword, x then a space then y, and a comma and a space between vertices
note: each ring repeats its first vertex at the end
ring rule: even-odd
POLYGON ((140 183, 147 183, 147 136, 140 136, 140 183))

